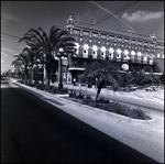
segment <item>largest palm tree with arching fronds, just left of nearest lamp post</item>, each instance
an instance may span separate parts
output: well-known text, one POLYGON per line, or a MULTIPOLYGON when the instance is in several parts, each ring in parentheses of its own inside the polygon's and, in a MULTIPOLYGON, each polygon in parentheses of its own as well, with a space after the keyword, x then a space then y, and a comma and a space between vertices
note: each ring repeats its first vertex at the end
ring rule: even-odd
POLYGON ((68 53, 74 53, 75 39, 72 37, 66 29, 59 29, 53 25, 48 33, 42 28, 30 29, 19 42, 25 41, 25 44, 31 47, 31 51, 36 54, 45 66, 46 88, 50 87, 51 67, 53 59, 57 56, 67 56, 68 53), (64 53, 59 53, 59 48, 64 53))

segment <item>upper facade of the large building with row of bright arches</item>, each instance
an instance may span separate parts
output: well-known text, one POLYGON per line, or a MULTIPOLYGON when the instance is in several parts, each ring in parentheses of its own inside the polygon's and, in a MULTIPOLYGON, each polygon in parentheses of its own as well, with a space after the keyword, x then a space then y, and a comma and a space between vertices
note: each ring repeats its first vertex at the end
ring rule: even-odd
POLYGON ((148 35, 95 30, 74 22, 69 18, 67 29, 77 41, 79 58, 125 62, 130 57, 131 63, 147 65, 154 65, 156 58, 164 58, 164 43, 154 42, 148 35))

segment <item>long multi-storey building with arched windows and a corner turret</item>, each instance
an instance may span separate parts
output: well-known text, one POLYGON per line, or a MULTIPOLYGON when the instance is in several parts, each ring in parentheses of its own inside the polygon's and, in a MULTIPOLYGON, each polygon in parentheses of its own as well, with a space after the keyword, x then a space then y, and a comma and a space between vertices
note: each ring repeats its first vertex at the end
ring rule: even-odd
POLYGON ((154 35, 98 28, 76 22, 72 17, 66 28, 76 39, 76 52, 73 57, 68 54, 68 61, 64 59, 64 81, 73 83, 74 78, 79 81, 85 66, 99 59, 128 63, 130 69, 138 72, 164 73, 164 41, 154 35))

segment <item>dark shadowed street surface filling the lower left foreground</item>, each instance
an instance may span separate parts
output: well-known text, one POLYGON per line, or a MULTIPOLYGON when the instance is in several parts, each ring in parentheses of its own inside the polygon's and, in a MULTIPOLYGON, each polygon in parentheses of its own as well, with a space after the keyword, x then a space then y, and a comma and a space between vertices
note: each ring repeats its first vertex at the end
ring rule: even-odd
MULTIPOLYGON (((1 117, 20 163, 155 163, 14 85, 1 88, 1 117)), ((1 147, 2 163, 14 157, 8 149, 1 147)))

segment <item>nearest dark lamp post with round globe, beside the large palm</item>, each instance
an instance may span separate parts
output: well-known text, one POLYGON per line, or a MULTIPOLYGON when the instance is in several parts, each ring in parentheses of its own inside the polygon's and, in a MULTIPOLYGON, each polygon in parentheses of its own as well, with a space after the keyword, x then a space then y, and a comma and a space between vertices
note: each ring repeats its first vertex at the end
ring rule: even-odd
POLYGON ((64 48, 59 48, 59 84, 58 84, 58 92, 63 91, 63 72, 62 72, 62 54, 64 53, 64 48))

